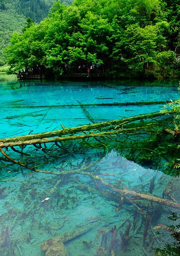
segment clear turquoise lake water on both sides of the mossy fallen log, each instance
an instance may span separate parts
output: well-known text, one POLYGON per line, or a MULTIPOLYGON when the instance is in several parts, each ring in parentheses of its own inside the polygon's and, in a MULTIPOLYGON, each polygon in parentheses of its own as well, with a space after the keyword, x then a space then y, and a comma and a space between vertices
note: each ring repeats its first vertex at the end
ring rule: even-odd
MULTIPOLYGON (((179 98, 177 86, 105 81, 18 82, 14 76, 7 79, 1 75, 0 137, 53 131, 62 128, 61 124, 70 128, 156 112, 162 109, 164 103, 112 103, 175 100, 179 98)), ((152 256, 152 247, 163 247, 170 242, 169 232, 156 230, 155 227, 159 223, 171 224, 167 216, 171 211, 180 212, 180 209, 152 200, 139 201, 128 195, 133 203, 124 199, 121 209, 117 211, 121 196, 106 184, 111 182, 116 188, 124 187, 160 198, 164 189, 168 188, 171 196, 179 201, 179 178, 144 169, 114 151, 102 156, 89 149, 85 155, 79 151, 73 152, 73 147, 69 147, 70 153, 63 156, 62 161, 54 157, 51 166, 43 166, 43 170, 56 174, 25 171, 19 166, 1 168, 1 174, 9 175, 9 178, 2 177, 0 180, 0 255, 111 256, 113 250, 115 256, 152 256), (72 174, 72 166, 76 166, 75 174, 72 174), (14 169, 16 173, 11 176, 14 169), (155 182, 150 191, 152 178, 155 178, 155 182), (152 218, 145 234, 144 216, 148 208, 152 218), (158 215, 161 210, 162 214, 158 215), (125 236, 128 225, 129 234, 125 236), (157 235, 157 231, 161 234, 157 235), (69 239, 63 240, 66 248, 64 254, 52 254, 52 248, 61 250, 57 237, 60 240, 65 233, 68 233, 69 239), (48 240, 50 238, 53 240, 48 240), (41 251, 42 242, 48 243, 48 251, 41 251)), ((165 198, 172 200, 167 196, 165 198)))

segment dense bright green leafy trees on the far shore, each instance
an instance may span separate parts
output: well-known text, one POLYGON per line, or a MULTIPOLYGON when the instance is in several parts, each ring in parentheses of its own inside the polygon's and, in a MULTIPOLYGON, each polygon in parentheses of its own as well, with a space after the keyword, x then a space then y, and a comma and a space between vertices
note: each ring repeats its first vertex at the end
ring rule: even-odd
POLYGON ((179 44, 177 0, 58 0, 39 24, 13 33, 5 52, 10 72, 38 65, 60 78, 98 63, 108 77, 164 79, 180 75, 179 44))

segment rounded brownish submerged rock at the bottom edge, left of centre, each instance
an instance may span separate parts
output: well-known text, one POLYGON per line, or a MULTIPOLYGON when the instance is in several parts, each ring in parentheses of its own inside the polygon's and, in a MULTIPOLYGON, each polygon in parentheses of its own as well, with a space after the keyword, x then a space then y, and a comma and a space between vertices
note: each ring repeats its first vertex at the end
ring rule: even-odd
POLYGON ((51 245, 46 251, 45 256, 69 256, 69 254, 64 243, 60 242, 51 245))

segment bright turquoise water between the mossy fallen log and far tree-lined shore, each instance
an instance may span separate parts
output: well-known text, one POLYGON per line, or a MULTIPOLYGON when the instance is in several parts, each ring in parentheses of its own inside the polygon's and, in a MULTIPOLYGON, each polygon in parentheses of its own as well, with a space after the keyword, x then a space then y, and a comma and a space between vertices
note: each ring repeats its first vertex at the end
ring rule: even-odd
POLYGON ((0 90, 3 137, 156 112, 166 100, 178 98, 177 85, 3 81, 0 90), (150 104, 130 104, 146 101, 150 104))

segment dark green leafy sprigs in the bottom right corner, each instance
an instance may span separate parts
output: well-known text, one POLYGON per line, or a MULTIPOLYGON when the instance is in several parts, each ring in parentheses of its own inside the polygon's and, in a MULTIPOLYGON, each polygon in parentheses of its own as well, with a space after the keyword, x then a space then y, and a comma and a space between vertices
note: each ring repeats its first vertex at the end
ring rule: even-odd
MULTIPOLYGON (((180 213, 172 213, 168 216, 170 220, 179 223, 175 225, 169 225, 169 231, 171 232, 171 237, 174 239, 172 244, 167 243, 164 248, 154 248, 155 256, 179 256, 180 255, 180 213)), ((159 232, 158 232, 159 234, 159 232)))

